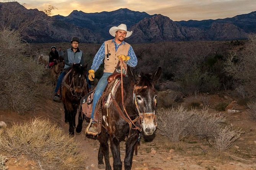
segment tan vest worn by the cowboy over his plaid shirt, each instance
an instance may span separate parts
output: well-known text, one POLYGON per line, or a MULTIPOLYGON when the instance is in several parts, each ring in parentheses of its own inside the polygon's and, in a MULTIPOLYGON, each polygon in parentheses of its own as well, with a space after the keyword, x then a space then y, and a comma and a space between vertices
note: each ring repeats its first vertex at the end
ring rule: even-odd
MULTIPOLYGON (((123 45, 120 45, 119 48, 116 51, 115 44, 112 42, 112 40, 105 41, 105 60, 104 60, 104 72, 111 72, 113 73, 116 65, 118 63, 117 56, 119 55, 128 55, 128 51, 130 48, 130 44, 125 43, 123 45), (107 50, 108 47, 108 50, 107 50), (107 60, 107 53, 110 53, 109 60, 107 60)), ((124 63, 126 69, 126 63, 124 63)))

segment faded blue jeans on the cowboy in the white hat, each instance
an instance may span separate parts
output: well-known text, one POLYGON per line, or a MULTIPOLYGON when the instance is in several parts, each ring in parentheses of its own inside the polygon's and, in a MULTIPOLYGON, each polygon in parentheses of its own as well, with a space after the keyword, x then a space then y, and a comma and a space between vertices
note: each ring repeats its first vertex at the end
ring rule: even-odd
POLYGON ((99 82, 96 86, 94 95, 93 95, 93 110, 91 112, 91 118, 94 118, 94 110, 96 107, 96 104, 99 100, 99 98, 101 97, 103 91, 105 90, 106 86, 108 85, 108 76, 111 75, 112 73, 110 72, 104 72, 103 76, 101 77, 101 79, 99 79, 99 82))

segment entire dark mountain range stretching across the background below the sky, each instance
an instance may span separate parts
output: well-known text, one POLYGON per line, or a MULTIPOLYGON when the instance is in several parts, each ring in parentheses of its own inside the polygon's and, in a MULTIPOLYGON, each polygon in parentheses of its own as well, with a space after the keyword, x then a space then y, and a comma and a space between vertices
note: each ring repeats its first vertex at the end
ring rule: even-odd
POLYGON ((109 28, 121 23, 133 31, 127 38, 130 43, 236 40, 256 33, 256 11, 225 19, 172 21, 161 14, 149 15, 127 8, 100 13, 74 10, 66 17, 49 17, 37 9, 28 10, 17 2, 0 3, 0 26, 23 28, 19 29, 28 42, 68 42, 72 36, 78 36, 81 42, 102 43, 112 38, 109 28))

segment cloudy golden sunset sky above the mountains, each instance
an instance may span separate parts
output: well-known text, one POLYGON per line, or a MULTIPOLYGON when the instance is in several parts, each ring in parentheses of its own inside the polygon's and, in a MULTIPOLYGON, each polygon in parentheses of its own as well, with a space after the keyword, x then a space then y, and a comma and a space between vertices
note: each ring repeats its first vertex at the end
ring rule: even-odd
MULTIPOLYGON (((13 0, 0 0, 10 2, 13 0)), ((128 8, 148 14, 162 14, 173 21, 229 18, 256 11, 256 0, 17 0, 28 9, 57 9, 52 15, 67 16, 73 10, 85 13, 128 8)))

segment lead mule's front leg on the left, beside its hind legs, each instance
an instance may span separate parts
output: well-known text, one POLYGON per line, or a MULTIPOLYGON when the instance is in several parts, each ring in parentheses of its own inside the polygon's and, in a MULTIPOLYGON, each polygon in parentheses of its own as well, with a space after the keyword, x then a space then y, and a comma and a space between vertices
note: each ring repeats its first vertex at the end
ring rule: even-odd
POLYGON ((115 137, 110 137, 110 148, 113 155, 113 168, 114 170, 122 170, 122 161, 120 158, 120 149, 119 149, 120 141, 115 137))

